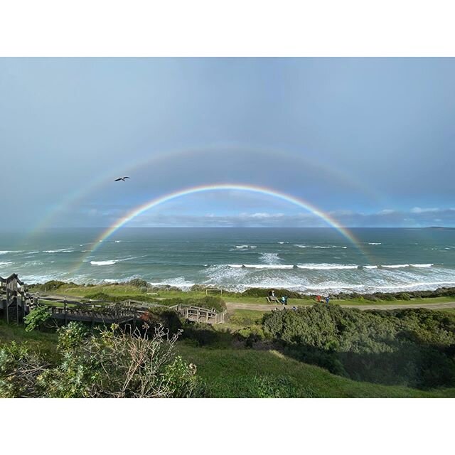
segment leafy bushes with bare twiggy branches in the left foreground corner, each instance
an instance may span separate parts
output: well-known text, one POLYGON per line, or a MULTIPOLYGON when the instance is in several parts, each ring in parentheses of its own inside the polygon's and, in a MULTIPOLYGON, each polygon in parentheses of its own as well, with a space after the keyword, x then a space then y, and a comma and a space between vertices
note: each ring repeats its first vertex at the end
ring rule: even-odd
POLYGON ((113 326, 96 335, 71 322, 58 329, 58 361, 26 343, 0 348, 0 397, 190 397, 200 393, 195 365, 174 354, 178 334, 113 326))

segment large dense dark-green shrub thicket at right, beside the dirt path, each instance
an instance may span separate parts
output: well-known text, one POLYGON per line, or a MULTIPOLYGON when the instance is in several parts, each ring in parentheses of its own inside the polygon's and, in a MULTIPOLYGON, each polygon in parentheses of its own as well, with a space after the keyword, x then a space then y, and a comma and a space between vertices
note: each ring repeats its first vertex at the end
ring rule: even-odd
POLYGON ((264 315, 264 333, 290 355, 355 380, 455 384, 455 315, 314 305, 264 315))

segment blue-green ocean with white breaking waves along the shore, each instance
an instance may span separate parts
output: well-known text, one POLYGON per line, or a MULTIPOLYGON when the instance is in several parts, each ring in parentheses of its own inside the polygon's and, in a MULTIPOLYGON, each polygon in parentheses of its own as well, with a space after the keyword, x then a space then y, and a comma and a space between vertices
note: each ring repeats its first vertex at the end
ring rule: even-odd
POLYGON ((286 288, 307 294, 455 286, 455 230, 356 228, 124 228, 0 234, 0 276, 28 283, 122 282, 140 277, 188 290, 286 288), (95 250, 94 250, 95 248, 95 250))

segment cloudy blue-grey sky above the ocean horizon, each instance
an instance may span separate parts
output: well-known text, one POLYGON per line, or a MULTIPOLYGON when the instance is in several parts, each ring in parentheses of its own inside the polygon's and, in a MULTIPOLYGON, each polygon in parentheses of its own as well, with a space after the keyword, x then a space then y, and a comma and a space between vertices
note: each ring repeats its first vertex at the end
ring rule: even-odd
MULTIPOLYGON (((221 184, 346 227, 455 226, 454 80, 454 58, 0 58, 1 230, 107 227, 221 184)), ((326 222, 225 190, 128 225, 326 222)))

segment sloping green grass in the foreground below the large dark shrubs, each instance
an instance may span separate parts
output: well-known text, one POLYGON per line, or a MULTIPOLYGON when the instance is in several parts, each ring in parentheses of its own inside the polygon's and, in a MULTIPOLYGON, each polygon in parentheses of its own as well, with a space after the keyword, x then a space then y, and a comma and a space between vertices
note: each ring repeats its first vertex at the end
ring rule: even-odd
POLYGON ((455 397, 454 388, 423 391, 342 378, 275 350, 196 348, 184 342, 177 349, 197 365, 210 397, 256 397, 258 377, 272 384, 284 378, 298 397, 455 397))

